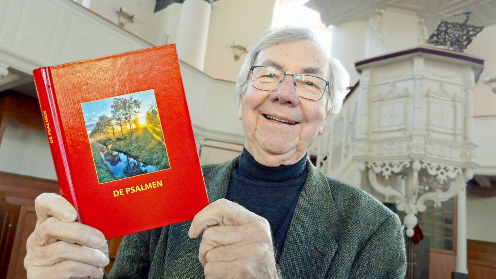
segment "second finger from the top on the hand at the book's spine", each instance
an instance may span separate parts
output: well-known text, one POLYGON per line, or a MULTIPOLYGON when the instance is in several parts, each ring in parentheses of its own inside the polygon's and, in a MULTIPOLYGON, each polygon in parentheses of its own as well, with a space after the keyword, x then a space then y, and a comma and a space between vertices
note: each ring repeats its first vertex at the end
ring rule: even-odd
POLYGON ((90 248, 100 248, 105 244, 105 237, 97 229, 78 222, 67 223, 55 217, 49 217, 42 222, 35 233, 36 237, 30 241, 37 247, 52 243, 53 240, 63 240, 90 248))

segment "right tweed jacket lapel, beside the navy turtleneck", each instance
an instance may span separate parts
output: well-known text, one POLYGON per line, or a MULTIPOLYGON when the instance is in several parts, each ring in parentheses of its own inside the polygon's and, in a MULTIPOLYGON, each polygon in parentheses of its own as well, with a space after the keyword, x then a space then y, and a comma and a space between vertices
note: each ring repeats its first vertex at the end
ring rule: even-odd
POLYGON ((279 261, 283 278, 324 278, 338 249, 330 229, 337 214, 329 184, 310 160, 307 170, 279 261))

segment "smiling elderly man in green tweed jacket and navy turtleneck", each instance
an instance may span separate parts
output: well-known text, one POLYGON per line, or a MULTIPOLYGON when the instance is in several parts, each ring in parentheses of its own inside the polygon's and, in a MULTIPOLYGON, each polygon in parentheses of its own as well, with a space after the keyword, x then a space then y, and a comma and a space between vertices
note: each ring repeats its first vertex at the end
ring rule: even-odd
POLYGON ((40 195, 28 278, 403 278, 398 216, 306 158, 348 81, 310 31, 268 33, 236 82, 243 153, 202 169, 211 204, 192 221, 125 237, 107 276, 103 235, 74 222, 67 200, 40 195))

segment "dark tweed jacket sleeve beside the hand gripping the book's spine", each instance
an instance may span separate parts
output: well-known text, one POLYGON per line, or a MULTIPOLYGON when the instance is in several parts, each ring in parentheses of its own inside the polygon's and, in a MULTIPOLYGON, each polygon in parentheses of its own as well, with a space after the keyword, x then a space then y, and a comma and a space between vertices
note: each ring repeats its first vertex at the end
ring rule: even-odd
POLYGON ((125 236, 111 272, 103 279, 147 278, 150 270, 150 231, 125 236))

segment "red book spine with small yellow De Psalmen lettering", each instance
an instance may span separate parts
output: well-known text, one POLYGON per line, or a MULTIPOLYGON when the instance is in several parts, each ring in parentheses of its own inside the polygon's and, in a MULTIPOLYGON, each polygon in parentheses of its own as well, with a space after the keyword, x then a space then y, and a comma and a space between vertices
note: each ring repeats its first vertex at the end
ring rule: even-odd
MULTIPOLYGON (((62 196, 79 212, 64 147, 61 119, 57 109, 57 99, 53 89, 50 67, 36 69, 33 71, 33 74, 43 123, 53 157, 53 164, 55 165, 55 171, 57 172, 60 191, 62 196)), ((78 221, 80 221, 79 214, 78 221)))

